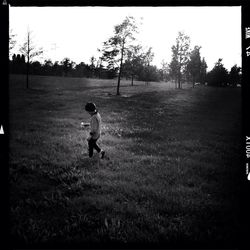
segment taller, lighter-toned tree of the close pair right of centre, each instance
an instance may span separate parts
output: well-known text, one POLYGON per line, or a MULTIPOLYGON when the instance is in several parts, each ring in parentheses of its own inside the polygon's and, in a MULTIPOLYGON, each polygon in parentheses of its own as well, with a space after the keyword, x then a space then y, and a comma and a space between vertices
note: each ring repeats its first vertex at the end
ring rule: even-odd
POLYGON ((178 81, 178 88, 181 88, 181 80, 186 70, 189 59, 190 38, 183 32, 179 32, 176 44, 172 46, 172 61, 170 70, 174 78, 178 81))

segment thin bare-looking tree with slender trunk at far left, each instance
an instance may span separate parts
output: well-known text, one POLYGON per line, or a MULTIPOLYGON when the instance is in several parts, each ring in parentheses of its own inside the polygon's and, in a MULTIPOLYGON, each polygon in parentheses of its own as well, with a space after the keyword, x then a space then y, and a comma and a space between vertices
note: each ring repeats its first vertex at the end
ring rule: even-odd
POLYGON ((20 52, 24 54, 26 57, 26 87, 29 88, 29 67, 32 59, 41 55, 43 53, 42 48, 36 49, 35 45, 33 44, 33 40, 31 37, 32 32, 28 29, 26 41, 24 42, 23 46, 20 48, 20 52))

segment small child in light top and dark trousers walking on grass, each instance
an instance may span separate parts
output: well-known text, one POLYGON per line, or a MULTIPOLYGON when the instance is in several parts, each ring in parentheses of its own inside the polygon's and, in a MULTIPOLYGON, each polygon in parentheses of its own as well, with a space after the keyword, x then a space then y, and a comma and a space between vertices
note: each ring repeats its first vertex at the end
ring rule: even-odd
POLYGON ((101 153, 101 158, 104 158, 105 151, 103 151, 98 145, 97 140, 101 135, 101 116, 96 109, 96 105, 92 102, 88 102, 85 105, 85 110, 91 115, 90 123, 81 123, 83 126, 90 126, 90 135, 88 137, 88 146, 89 146, 89 157, 93 156, 93 150, 95 149, 98 153, 101 153))

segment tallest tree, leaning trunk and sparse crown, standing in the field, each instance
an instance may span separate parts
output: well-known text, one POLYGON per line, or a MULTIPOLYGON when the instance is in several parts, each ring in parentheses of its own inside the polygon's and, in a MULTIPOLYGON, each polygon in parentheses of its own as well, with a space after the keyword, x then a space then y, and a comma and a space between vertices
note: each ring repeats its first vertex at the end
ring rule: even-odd
POLYGON ((135 40, 134 33, 136 32, 135 19, 126 17, 121 24, 114 27, 114 36, 104 42, 103 60, 108 62, 109 69, 118 70, 117 95, 120 95, 120 79, 124 57, 129 49, 128 45, 135 40))

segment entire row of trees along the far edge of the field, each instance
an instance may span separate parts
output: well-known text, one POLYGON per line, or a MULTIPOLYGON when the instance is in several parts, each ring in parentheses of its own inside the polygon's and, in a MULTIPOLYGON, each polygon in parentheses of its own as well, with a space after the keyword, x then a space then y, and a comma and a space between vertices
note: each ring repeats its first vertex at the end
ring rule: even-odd
MULTIPOLYGON (((117 78, 117 95, 120 94, 121 78, 145 81, 175 81, 176 88, 182 88, 183 82, 208 84, 212 86, 234 86, 241 83, 241 68, 234 65, 230 72, 225 69, 219 58, 214 68, 207 72, 205 58, 201 58, 201 46, 191 49, 190 37, 179 32, 172 46, 170 63, 162 62, 158 69, 152 65, 154 53, 152 48, 143 48, 137 43, 138 25, 133 17, 126 17, 121 24, 114 26, 114 34, 103 42, 98 49, 99 58, 91 57, 89 64, 76 64, 70 58, 52 63, 35 61, 34 58, 43 53, 42 48, 36 48, 27 32, 25 43, 20 49, 21 54, 13 55, 10 60, 10 73, 26 74, 28 76, 52 75, 64 77, 117 78)), ((15 46, 14 35, 10 35, 10 50, 15 46)))

